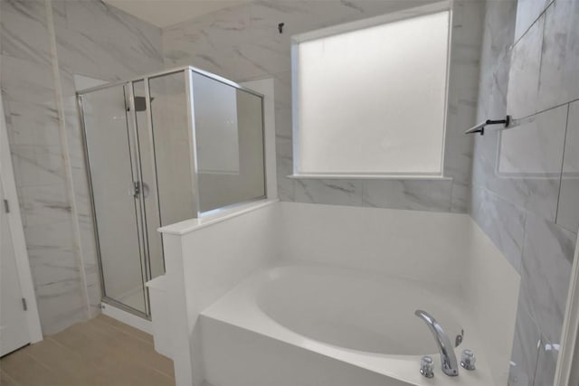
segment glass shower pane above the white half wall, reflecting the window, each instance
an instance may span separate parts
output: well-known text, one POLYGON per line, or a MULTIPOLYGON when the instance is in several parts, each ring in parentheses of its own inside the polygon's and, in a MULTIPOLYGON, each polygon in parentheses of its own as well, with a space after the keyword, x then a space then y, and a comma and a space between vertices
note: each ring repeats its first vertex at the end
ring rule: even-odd
POLYGON ((265 196, 261 97, 193 72, 200 212, 265 196))

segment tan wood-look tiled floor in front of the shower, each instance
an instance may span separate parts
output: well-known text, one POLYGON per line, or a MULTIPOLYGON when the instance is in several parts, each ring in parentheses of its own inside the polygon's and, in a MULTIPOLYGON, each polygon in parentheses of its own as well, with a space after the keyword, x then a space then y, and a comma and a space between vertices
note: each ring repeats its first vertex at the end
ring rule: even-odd
POLYGON ((100 315, 0 359, 0 384, 165 386, 175 377, 151 335, 100 315))

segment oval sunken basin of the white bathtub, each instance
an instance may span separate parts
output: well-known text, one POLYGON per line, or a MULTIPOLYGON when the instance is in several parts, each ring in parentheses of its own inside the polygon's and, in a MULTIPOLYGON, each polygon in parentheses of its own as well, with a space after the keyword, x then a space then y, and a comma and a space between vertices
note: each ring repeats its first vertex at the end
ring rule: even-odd
POLYGON ((256 300, 265 315, 289 330, 367 353, 436 353, 426 325, 414 315, 418 308, 438 318, 451 337, 462 329, 460 315, 440 290, 410 279, 381 280, 353 270, 274 268, 256 300))

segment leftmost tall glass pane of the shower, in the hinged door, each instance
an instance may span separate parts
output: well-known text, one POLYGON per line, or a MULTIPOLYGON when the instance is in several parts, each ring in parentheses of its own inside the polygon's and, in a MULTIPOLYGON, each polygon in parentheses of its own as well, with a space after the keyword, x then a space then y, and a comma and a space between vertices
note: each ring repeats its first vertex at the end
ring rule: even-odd
POLYGON ((81 100, 104 295, 146 314, 127 91, 114 86, 81 100))

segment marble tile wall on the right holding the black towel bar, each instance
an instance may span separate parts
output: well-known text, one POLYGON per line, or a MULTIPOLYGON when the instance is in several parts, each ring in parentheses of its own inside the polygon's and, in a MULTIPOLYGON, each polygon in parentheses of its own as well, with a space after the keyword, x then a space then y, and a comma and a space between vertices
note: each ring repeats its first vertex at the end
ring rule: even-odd
POLYGON ((577 20, 577 0, 486 8, 477 115, 522 119, 476 138, 470 213, 521 275, 512 385, 555 375, 579 228, 577 20))

